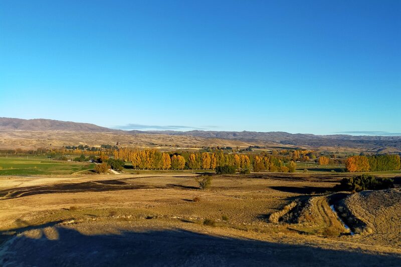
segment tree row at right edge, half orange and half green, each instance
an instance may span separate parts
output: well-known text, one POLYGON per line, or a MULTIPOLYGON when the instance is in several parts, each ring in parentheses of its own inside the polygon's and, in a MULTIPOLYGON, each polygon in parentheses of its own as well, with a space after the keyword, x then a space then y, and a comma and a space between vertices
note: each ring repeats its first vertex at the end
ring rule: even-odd
POLYGON ((351 156, 345 162, 349 172, 399 170, 399 155, 351 156))

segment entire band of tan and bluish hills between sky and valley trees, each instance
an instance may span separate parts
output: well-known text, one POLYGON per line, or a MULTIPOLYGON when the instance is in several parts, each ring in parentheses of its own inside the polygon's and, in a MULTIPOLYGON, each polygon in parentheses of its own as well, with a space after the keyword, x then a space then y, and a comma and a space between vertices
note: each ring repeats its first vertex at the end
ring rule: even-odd
MULTIPOLYGON (((291 134, 287 132, 230 132, 230 131, 123 131, 97 126, 90 123, 76 123, 48 119, 15 119, 0 118, 0 147, 30 147, 30 144, 73 145, 77 143, 116 143, 125 140, 127 144, 162 144, 179 145, 185 144, 197 146, 283 146, 304 147, 321 150, 339 151, 369 151, 376 153, 401 153, 401 136, 353 136, 353 135, 313 135, 313 134, 291 134), (73 134, 61 135, 55 131, 73 134), (91 134, 86 134, 91 133, 91 134), (97 137, 96 134, 98 133, 97 137), (103 133, 103 135, 100 135, 103 133), (107 133, 107 134, 106 134, 107 133), (105 135, 106 134, 106 135, 105 135), (74 136, 71 136, 74 135, 74 136), (46 137, 45 137, 46 136, 46 137), (88 141, 88 136, 91 136, 88 141), (180 139, 185 137, 185 142, 180 139), (40 140, 49 142, 39 142, 40 140), (93 139, 93 140, 92 140, 93 139), (31 141, 29 141, 31 140, 31 141), (32 141, 34 140, 34 141, 32 141), (50 141, 53 140, 53 141, 50 141), (7 143, 7 145, 6 145, 7 143), (75 144, 75 143, 74 143, 75 144)), ((182 140, 184 140, 182 139, 182 140)), ((124 144, 124 142, 120 144, 124 144)), ((35 145, 36 146, 36 145, 35 145)))

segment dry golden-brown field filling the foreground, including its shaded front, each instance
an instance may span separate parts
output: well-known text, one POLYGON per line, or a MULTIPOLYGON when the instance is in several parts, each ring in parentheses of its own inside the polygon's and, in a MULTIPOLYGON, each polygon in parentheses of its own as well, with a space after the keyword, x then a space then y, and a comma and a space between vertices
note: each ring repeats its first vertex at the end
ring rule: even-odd
POLYGON ((351 236, 329 207, 331 195, 325 194, 338 175, 213 176, 206 190, 197 188, 196 175, 0 177, 0 264, 401 263, 399 217, 389 220, 399 214, 399 204, 392 201, 399 189, 371 193, 367 204, 361 194, 345 198, 350 210, 360 211, 356 216, 375 229, 351 236), (381 205, 382 212, 373 211, 376 194, 390 201, 381 205), (294 201, 303 208, 287 212, 285 206, 294 201), (287 221, 269 221, 282 210, 287 221), (205 225, 205 219, 215 225, 205 225), (383 234, 391 239, 384 241, 383 234))

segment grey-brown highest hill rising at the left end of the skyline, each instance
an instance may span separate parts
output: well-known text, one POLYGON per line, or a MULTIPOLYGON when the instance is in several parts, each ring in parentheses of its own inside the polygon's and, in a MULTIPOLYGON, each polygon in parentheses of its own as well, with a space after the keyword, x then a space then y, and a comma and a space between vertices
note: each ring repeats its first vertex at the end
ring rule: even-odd
POLYGON ((111 132, 109 128, 100 127, 90 123, 71 121, 56 121, 48 119, 15 119, 0 118, 0 131, 71 131, 71 132, 111 132))

